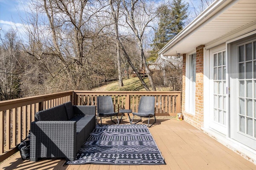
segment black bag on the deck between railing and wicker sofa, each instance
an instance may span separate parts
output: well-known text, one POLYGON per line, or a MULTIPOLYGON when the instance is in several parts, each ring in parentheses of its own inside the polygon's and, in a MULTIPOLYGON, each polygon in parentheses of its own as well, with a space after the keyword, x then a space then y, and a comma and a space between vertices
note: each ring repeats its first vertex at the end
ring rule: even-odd
POLYGON ((18 146, 20 150, 20 156, 23 160, 27 160, 30 157, 30 132, 29 135, 24 139, 18 146))

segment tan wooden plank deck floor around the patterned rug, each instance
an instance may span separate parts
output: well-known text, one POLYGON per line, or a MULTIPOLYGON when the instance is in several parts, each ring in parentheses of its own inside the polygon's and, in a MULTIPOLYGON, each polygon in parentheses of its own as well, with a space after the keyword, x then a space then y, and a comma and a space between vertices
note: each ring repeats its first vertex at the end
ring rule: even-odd
MULTIPOLYGON (((109 122, 109 121, 108 121, 109 122)), ((124 120, 122 123, 127 123, 124 120)), ((146 123, 144 121, 143 123, 146 123)), ((256 170, 256 165, 218 143, 185 121, 157 119, 150 132, 162 152, 166 165, 66 165, 61 160, 22 160, 16 153, 0 164, 0 169, 60 169, 60 170, 256 170)))

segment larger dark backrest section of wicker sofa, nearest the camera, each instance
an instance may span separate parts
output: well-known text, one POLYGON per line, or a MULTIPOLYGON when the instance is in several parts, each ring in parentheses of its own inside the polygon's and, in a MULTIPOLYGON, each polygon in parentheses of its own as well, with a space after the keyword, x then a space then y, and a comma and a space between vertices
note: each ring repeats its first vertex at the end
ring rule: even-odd
POLYGON ((64 104, 38 111, 35 121, 67 121, 67 114, 64 104))

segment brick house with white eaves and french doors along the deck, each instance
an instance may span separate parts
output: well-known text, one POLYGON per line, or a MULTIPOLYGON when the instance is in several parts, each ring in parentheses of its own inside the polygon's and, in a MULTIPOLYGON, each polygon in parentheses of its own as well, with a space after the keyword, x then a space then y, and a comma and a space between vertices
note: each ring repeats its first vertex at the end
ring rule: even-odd
POLYGON ((256 0, 215 1, 158 52, 177 54, 184 120, 256 164, 256 0))

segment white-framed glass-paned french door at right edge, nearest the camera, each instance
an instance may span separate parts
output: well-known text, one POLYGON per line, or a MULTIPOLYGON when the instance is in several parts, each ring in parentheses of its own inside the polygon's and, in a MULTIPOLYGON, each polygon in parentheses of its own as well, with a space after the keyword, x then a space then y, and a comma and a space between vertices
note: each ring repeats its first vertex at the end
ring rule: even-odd
POLYGON ((256 150, 256 39, 230 45, 230 137, 256 150))

